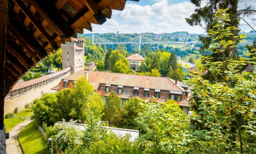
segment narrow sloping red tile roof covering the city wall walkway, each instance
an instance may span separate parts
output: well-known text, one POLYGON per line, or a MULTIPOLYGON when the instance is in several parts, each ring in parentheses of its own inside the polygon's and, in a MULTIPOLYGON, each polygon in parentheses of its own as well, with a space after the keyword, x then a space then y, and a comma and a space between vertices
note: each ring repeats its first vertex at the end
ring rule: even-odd
POLYGON ((30 85, 33 85, 33 84, 37 84, 37 83, 40 83, 42 81, 45 81, 45 80, 48 80, 52 77, 56 77, 62 73, 65 73, 65 72, 68 72, 69 70, 71 70, 71 66, 65 68, 64 70, 60 70, 59 72, 56 72, 56 73, 52 73, 52 74, 49 74, 49 75, 45 75, 43 77, 38 77, 36 79, 33 79, 33 80, 29 80, 29 81, 25 81, 25 82, 20 82, 20 83, 16 83, 13 88, 11 89, 11 91, 14 91, 14 90, 17 90, 17 89, 20 89, 20 88, 25 88, 27 86, 30 86, 30 85))

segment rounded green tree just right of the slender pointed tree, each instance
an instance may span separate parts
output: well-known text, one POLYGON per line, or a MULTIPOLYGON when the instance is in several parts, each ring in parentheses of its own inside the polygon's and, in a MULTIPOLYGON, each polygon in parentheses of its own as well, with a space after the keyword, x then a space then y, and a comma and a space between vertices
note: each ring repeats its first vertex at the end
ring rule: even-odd
POLYGON ((124 103, 124 115, 123 115, 123 121, 120 124, 122 128, 127 129, 137 129, 137 122, 136 118, 139 117, 139 114, 143 112, 144 106, 143 106, 142 99, 139 99, 137 97, 133 99, 128 99, 124 103))

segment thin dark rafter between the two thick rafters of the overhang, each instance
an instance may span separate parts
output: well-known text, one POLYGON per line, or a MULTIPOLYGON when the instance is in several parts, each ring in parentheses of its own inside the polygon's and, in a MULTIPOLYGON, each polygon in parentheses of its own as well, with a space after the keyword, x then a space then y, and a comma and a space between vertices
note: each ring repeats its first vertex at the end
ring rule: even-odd
MULTIPOLYGON (((25 13, 25 15, 30 19, 30 21, 34 24, 34 26, 40 31, 40 33, 45 37, 45 39, 51 44, 51 46, 57 50, 59 47, 52 37, 46 32, 41 23, 34 17, 34 15, 30 12, 30 10, 25 6, 25 4, 21 0, 15 0, 20 9, 25 13)), ((31 6, 33 7, 33 6, 31 6)))

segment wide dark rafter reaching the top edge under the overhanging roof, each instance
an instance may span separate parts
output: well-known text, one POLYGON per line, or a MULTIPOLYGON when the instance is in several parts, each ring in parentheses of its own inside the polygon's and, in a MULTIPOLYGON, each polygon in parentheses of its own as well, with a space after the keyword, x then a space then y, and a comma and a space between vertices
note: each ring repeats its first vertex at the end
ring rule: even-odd
POLYGON ((62 39, 68 38, 75 33, 55 7, 53 0, 29 0, 29 2, 62 39))

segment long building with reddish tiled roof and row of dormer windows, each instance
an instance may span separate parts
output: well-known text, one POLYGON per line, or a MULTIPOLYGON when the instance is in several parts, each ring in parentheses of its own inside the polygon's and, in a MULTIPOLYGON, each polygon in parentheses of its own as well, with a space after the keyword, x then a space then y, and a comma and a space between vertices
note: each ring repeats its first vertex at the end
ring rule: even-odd
POLYGON ((72 84, 80 77, 86 77, 98 95, 102 95, 103 102, 113 91, 123 103, 127 99, 139 97, 146 102, 164 103, 173 99, 188 114, 189 88, 187 85, 170 79, 169 77, 152 77, 135 74, 111 73, 100 71, 79 71, 64 77, 60 83, 52 88, 62 90, 72 88, 72 84))

